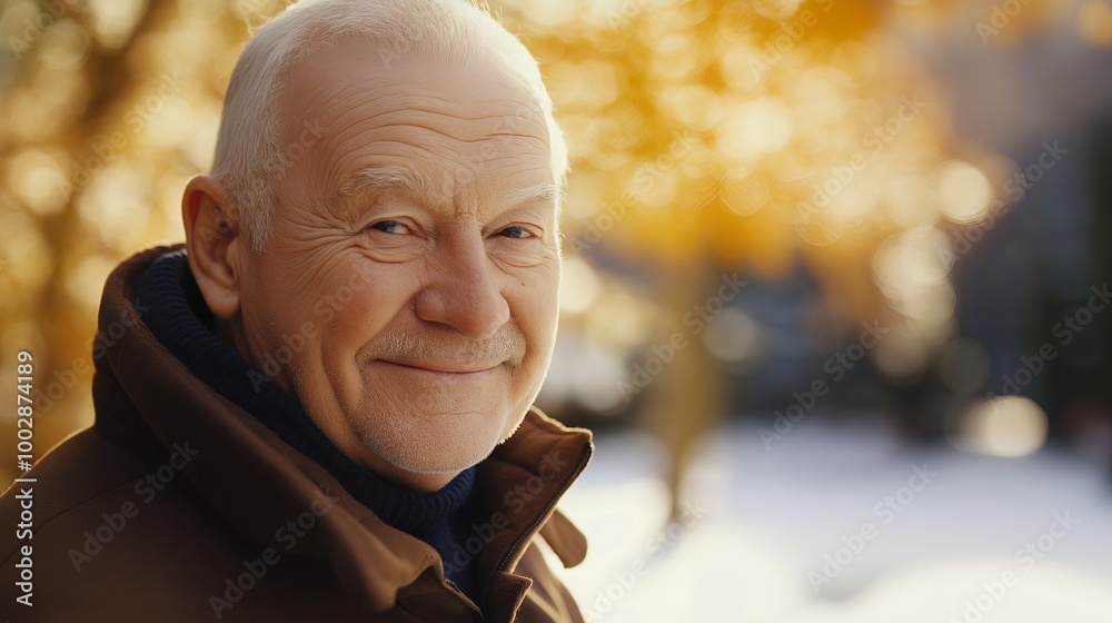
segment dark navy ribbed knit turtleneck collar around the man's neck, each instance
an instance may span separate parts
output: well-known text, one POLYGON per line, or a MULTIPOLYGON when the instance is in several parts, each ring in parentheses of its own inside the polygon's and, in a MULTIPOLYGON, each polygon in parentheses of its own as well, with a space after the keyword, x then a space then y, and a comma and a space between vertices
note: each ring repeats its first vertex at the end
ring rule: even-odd
POLYGON ((356 465, 309 419, 300 404, 216 336, 183 251, 159 258, 140 278, 137 305, 151 333, 199 379, 270 427, 284 442, 328 469, 353 497, 385 523, 410 534, 441 523, 467 501, 475 467, 444 488, 424 493, 388 483, 356 465), (257 389, 257 390, 256 390, 257 389))

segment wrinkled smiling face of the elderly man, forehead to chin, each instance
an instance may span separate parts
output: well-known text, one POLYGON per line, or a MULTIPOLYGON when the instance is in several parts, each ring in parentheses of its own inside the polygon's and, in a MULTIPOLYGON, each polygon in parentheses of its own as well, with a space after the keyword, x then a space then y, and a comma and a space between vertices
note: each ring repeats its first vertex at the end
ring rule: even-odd
POLYGON ((239 330, 259 366, 294 350, 276 380, 345 454, 431 490, 513 434, 547 370, 550 146, 508 72, 381 58, 346 40, 289 77, 284 140, 311 145, 277 185, 239 330))

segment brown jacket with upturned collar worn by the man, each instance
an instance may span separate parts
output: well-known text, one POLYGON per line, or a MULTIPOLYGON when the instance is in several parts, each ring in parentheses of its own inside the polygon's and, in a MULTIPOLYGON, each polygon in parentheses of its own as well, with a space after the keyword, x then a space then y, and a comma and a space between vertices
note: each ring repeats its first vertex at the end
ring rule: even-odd
MULTIPOLYGON (((424 542, 383 523, 317 463, 215 393, 158 343, 132 305, 141 271, 105 286, 95 347, 96 424, 0 498, 0 612, 12 621, 487 621, 583 619, 542 555, 565 566, 586 540, 555 510, 590 434, 534 408, 476 476, 485 521, 480 604, 424 542), (99 356, 98 356, 99 355, 99 356), (13 526, 32 488, 33 537, 13 526), (32 546, 33 606, 16 603, 32 546), (26 566, 26 561, 23 561, 26 566)), ((40 373, 41 374, 41 373, 40 373)))

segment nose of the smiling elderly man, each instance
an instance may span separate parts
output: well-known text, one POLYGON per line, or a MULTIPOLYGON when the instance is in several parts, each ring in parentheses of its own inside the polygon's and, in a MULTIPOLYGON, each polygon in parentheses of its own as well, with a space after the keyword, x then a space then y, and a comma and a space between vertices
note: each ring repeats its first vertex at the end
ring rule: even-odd
POLYGON ((480 237, 439 249, 431 278, 417 295, 417 317, 439 323, 471 339, 486 339, 509 320, 509 305, 497 268, 480 237))

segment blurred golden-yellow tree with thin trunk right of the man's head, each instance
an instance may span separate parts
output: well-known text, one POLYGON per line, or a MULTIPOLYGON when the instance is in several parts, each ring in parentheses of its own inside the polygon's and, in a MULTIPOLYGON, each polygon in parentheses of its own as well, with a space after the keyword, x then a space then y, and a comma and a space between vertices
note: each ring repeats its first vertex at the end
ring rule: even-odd
POLYGON ((723 269, 777 280, 803 261, 846 326, 892 316, 892 295, 906 304, 892 360, 950 337, 950 310, 933 309, 947 287, 934 253, 945 237, 887 243, 910 251, 890 253, 882 270, 894 281, 926 273, 920 287, 874 284, 882 243, 939 220, 931 175, 949 140, 931 80, 876 36, 882 4, 513 6, 508 21, 523 24, 570 135, 569 251, 659 275, 663 318, 648 340, 666 345, 678 330, 691 344, 646 400, 672 448, 674 487, 692 443, 725 408, 724 366, 682 323, 716 296, 723 269))

